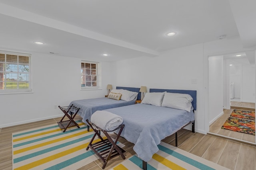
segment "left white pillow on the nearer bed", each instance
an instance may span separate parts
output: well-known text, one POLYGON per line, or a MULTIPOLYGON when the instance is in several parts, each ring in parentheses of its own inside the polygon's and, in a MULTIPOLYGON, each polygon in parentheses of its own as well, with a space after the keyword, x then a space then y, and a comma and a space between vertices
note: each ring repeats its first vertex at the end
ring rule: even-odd
POLYGON ((166 92, 152 92, 152 93, 146 93, 145 97, 141 101, 143 104, 151 104, 155 106, 161 106, 164 94, 166 92))

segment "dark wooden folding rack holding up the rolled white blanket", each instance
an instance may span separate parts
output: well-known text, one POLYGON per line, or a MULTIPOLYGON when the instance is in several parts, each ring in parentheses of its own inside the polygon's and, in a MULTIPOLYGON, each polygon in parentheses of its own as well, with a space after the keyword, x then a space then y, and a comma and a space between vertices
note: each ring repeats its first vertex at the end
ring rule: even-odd
POLYGON ((102 169, 104 169, 106 167, 108 160, 110 160, 118 155, 122 156, 122 158, 125 159, 125 156, 123 154, 125 152, 125 150, 120 148, 118 145, 116 145, 116 143, 122 133, 122 130, 124 129, 124 124, 121 124, 119 127, 117 127, 116 129, 113 130, 113 131, 116 131, 116 130, 120 129, 119 133, 116 136, 116 139, 114 139, 114 141, 113 141, 113 139, 108 134, 108 132, 113 132, 113 131, 105 131, 104 129, 97 127, 94 123, 92 123, 88 119, 86 121, 95 132, 94 136, 92 137, 86 150, 88 150, 89 148, 92 149, 92 151, 94 151, 94 153, 104 162, 102 169), (100 136, 100 131, 102 131, 104 133, 104 135, 107 137, 107 139, 103 139, 100 136), (96 135, 98 136, 100 141, 96 142, 96 143, 92 143, 94 138, 96 137, 96 135))

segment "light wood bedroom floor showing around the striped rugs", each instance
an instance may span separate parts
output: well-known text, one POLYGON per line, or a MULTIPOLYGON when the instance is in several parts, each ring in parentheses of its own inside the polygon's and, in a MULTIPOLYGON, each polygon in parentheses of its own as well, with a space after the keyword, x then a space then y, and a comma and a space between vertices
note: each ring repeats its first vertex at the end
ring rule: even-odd
MULTIPOLYGON (((60 121, 60 118, 49 119, 40 122, 28 123, 0 129, 0 169, 12 170, 12 133, 24 131, 35 127, 51 125, 60 121)), ((244 145, 242 143, 222 139, 201 133, 181 129, 178 131, 179 148, 192 154, 230 168, 231 170, 256 170, 256 147, 244 145)), ((132 147, 134 144, 125 139, 119 140, 125 145, 125 156, 129 158, 135 154, 132 147)), ((175 136, 171 135, 163 140, 165 143, 175 146, 175 136)), ((110 160, 105 168, 108 170, 122 162, 118 156, 110 160)), ((86 164, 86 162, 85 162, 86 164)), ((102 170, 102 162, 96 160, 80 168, 80 170, 102 170)))

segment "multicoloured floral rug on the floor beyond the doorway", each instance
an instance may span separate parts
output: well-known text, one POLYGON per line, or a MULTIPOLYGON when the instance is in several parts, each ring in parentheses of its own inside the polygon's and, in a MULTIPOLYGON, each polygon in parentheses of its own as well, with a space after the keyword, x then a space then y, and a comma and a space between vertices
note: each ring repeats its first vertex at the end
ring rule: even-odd
POLYGON ((255 111, 234 109, 221 128, 255 135, 255 111))

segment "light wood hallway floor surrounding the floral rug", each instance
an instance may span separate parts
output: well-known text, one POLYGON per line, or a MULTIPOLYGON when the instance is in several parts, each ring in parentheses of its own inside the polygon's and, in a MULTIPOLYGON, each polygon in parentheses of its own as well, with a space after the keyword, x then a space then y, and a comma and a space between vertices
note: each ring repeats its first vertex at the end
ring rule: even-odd
POLYGON ((228 119, 230 114, 232 113, 233 109, 243 109, 243 110, 251 110, 255 111, 255 104, 254 103, 244 103, 244 102, 231 102, 231 109, 227 110, 224 109, 224 114, 219 117, 214 123, 210 125, 209 132, 215 133, 218 135, 223 135, 226 137, 232 137, 234 139, 239 139, 246 142, 255 143, 255 136, 248 135, 246 133, 240 133, 235 131, 230 131, 226 129, 221 129, 224 122, 228 119))

